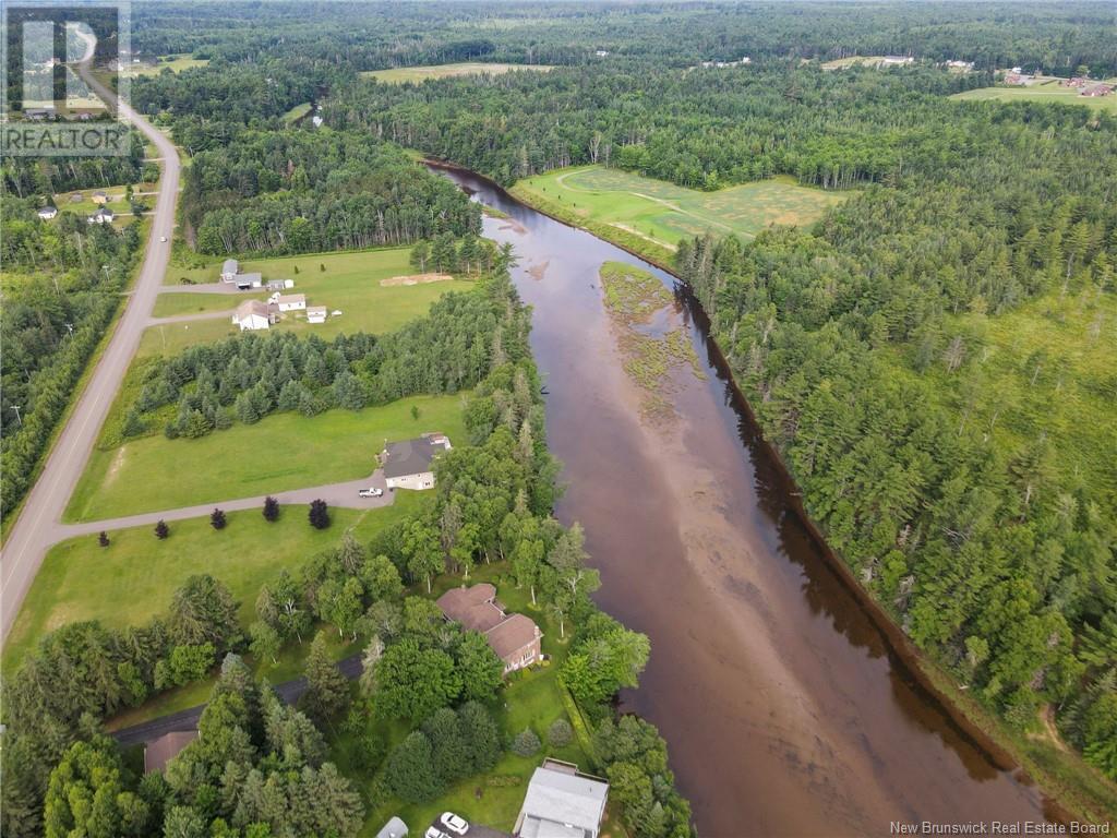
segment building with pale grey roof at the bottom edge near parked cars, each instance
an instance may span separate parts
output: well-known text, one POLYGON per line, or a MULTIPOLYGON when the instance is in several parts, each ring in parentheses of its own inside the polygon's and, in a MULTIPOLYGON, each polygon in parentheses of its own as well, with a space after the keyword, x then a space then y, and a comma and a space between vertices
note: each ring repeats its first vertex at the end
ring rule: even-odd
POLYGON ((532 774, 513 835, 517 838, 598 838, 609 783, 577 765, 546 759, 532 774))

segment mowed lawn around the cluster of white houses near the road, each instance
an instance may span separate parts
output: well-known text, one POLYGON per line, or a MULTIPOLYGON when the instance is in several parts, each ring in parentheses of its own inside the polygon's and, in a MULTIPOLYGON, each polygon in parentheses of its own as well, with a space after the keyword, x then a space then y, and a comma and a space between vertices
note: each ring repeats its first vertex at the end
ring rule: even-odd
MULTIPOLYGON (((308 306, 324 305, 341 315, 327 317, 325 323, 311 325, 302 312, 289 312, 273 328, 284 328, 302 334, 316 334, 331 339, 341 333, 392 332, 409 321, 421 317, 443 294, 466 291, 472 283, 449 280, 424 285, 397 285, 384 287, 382 279, 416 273, 410 264, 411 248, 397 247, 383 250, 359 250, 336 254, 308 254, 276 259, 242 261, 244 273, 258 272, 268 279, 294 279, 295 287, 286 294, 305 294, 308 306), (298 273, 295 273, 295 269, 298 273)), ((203 267, 183 268, 172 265, 166 283, 178 285, 183 278, 192 283, 220 280, 220 259, 203 267)), ((155 302, 154 316, 169 317, 194 312, 222 312, 236 308, 245 299, 266 299, 267 294, 161 294, 155 302)), ((140 343, 141 356, 173 354, 195 343, 216 341, 237 332, 229 318, 194 321, 152 326, 140 343)))

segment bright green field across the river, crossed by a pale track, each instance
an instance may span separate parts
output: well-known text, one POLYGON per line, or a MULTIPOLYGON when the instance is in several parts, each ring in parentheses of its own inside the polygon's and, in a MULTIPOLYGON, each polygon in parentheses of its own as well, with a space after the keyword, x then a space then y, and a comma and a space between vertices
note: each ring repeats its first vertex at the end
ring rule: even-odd
POLYGON ((800 187, 790 178, 699 192, 600 165, 519 181, 513 193, 557 202, 574 216, 674 249, 682 238, 751 238, 768 225, 809 225, 849 193, 800 187))

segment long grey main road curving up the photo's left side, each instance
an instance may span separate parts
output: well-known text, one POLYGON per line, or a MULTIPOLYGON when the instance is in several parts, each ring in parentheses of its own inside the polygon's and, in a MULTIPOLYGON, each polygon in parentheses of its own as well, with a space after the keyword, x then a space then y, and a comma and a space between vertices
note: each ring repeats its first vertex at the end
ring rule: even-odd
MULTIPOLYGON (((79 73, 86 83, 106 102, 115 99, 89 72, 93 48, 90 45, 79 73)), ((69 502, 70 493, 93 450, 101 426, 108 413, 121 381, 140 344, 155 297, 163 283, 163 274, 171 256, 174 236, 174 203, 179 193, 180 163, 174 144, 128 105, 121 103, 121 111, 159 149, 162 160, 159 199, 152 219, 151 236, 135 287, 125 303, 121 317, 85 390, 78 397, 69 421, 47 458, 38 482, 31 488, 3 546, 0 558, 0 641, 19 612, 35 574, 42 563, 47 547, 59 540, 59 522, 69 502), (166 241, 160 238, 165 237, 166 241)))

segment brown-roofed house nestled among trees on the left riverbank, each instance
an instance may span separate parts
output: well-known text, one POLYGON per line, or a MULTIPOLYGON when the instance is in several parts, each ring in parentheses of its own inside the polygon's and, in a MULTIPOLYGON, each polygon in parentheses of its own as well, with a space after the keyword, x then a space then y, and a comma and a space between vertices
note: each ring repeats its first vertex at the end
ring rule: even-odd
POLYGON ((488 582, 454 588, 438 598, 446 619, 485 635, 488 645, 504 661, 505 674, 523 669, 543 657, 543 632, 531 617, 505 613, 488 582))

